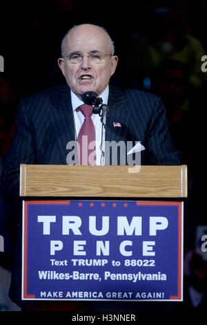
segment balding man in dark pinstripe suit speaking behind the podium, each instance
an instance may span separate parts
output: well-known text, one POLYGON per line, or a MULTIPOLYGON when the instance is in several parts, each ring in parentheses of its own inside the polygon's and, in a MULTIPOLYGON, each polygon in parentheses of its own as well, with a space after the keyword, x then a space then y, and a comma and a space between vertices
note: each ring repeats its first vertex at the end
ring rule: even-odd
MULTIPOLYGON (((106 30, 83 24, 72 28, 62 41, 59 67, 66 85, 31 95, 19 104, 14 135, 1 177, 1 195, 11 206, 14 223, 19 225, 17 250, 10 297, 21 304, 21 200, 19 165, 66 164, 68 143, 78 138, 84 116, 79 107, 86 91, 95 91, 108 104, 106 141, 141 141, 141 164, 180 165, 173 146, 163 102, 148 93, 109 86, 118 58, 106 30), (116 127, 118 123, 119 127, 116 127), (14 204, 15 203, 15 204, 14 204)), ((96 140, 101 139, 99 115, 92 115, 96 140)), ((96 162, 100 151, 96 147, 96 162)), ((112 160, 108 160, 112 163, 112 160)), ((121 163, 121 157, 117 164, 121 163)))

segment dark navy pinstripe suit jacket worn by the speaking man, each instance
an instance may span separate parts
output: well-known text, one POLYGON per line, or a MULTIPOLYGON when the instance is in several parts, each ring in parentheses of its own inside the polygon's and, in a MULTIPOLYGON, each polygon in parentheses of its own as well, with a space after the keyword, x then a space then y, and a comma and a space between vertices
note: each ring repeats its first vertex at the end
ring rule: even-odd
MULTIPOLYGON (((146 148, 141 163, 180 165, 168 133, 164 104, 155 95, 141 91, 121 91, 110 87, 106 121, 107 141, 141 141, 146 148), (114 127, 119 122, 121 127, 114 127)), ((14 223, 21 219, 19 165, 66 164, 66 145, 75 140, 70 89, 57 86, 21 100, 17 111, 17 131, 1 174, 1 196, 12 206, 14 223), (11 204, 12 203, 12 204, 11 204)), ((21 228, 14 255, 10 298, 21 304, 21 228)))

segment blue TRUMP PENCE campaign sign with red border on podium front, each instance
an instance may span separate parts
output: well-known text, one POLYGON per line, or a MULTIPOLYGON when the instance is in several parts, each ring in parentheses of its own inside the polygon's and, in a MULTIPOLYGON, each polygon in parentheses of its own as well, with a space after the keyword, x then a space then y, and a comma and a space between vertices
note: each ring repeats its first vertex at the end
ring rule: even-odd
POLYGON ((23 201, 22 299, 182 300, 183 203, 23 201))

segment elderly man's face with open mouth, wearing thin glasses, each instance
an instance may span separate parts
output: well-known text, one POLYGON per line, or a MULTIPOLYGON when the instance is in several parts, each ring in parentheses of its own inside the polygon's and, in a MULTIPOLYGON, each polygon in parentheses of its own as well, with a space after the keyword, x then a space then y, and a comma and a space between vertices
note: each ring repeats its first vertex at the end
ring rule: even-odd
POLYGON ((100 95, 117 67, 117 56, 111 57, 110 44, 105 32, 96 26, 84 24, 77 26, 66 37, 64 54, 81 53, 89 55, 99 52, 107 55, 100 63, 84 56, 81 62, 72 63, 67 57, 59 59, 59 67, 70 89, 80 99, 86 91, 95 91, 100 95))

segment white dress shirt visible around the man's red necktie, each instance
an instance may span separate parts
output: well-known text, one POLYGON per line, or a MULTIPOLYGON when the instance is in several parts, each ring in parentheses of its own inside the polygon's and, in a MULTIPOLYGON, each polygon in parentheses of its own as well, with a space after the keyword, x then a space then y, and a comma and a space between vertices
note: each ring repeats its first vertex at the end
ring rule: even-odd
MULTIPOLYGON (((84 121, 84 115, 81 113, 81 111, 78 109, 79 106, 83 105, 84 103, 73 93, 71 93, 71 102, 72 102, 72 110, 74 114, 74 122, 75 122, 75 140, 77 140, 77 136, 79 134, 79 131, 81 129, 81 125, 83 124, 84 121)), ((108 93, 109 93, 109 88, 108 86, 106 89, 99 95, 99 97, 102 98, 103 104, 108 104, 108 93)), ((95 136, 96 136, 96 156, 97 156, 97 161, 96 165, 101 165, 101 133, 102 133, 102 124, 101 124, 101 118, 99 114, 92 114, 91 116, 92 122, 95 126, 95 136)))

